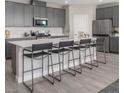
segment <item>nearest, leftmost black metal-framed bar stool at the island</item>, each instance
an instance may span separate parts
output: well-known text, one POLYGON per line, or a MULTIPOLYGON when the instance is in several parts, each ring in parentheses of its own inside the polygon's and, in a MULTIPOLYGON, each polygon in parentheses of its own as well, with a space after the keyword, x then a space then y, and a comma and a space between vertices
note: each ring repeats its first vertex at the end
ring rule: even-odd
MULTIPOLYGON (((42 69, 42 77, 45 78, 46 80, 48 80, 51 84, 54 84, 54 71, 53 71, 53 61, 52 61, 52 53, 50 51, 52 51, 52 43, 44 43, 44 44, 33 44, 32 48, 25 48, 23 49, 23 71, 22 71, 22 81, 23 84, 31 91, 31 93, 33 93, 34 91, 34 70, 39 70, 42 69), (25 53, 29 52, 29 53, 25 53), (49 56, 51 58, 51 65, 49 63, 49 56), (24 57, 28 57, 31 59, 31 70, 26 70, 25 71, 25 65, 24 65, 24 57), (34 69, 34 61, 36 60, 36 58, 40 57, 42 59, 42 67, 40 68, 35 68, 34 69), (48 79, 46 76, 44 76, 44 58, 48 58, 48 74, 49 74, 49 68, 51 67, 52 69, 52 80, 48 79), (32 85, 31 88, 24 82, 24 74, 31 72, 32 75, 32 85)), ((40 60, 41 60, 40 59, 40 60)))

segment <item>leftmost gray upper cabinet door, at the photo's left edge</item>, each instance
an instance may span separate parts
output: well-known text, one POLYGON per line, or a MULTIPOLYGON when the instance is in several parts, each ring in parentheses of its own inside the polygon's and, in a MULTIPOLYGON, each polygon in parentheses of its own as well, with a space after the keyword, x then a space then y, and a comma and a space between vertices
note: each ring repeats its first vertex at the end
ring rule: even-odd
POLYGON ((14 26, 14 3, 5 2, 5 26, 14 26))

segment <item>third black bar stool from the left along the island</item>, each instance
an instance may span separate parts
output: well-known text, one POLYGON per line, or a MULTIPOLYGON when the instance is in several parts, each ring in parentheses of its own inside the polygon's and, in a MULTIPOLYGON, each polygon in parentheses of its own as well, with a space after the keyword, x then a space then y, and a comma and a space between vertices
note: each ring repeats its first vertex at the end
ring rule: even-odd
MULTIPOLYGON (((91 58, 91 49, 90 49, 90 42, 91 42, 91 39, 81 39, 79 44, 75 44, 76 46, 74 46, 74 49, 75 50, 79 50, 79 66, 80 66, 80 72, 76 70, 76 72, 78 73, 82 73, 82 63, 81 63, 81 52, 84 52, 84 63, 89 65, 89 64, 92 64, 92 58, 91 58), (87 54, 87 50, 89 51, 89 54, 87 54), (86 58, 87 57, 90 57, 90 63, 86 62, 86 58)), ((89 66, 85 66, 89 69, 92 69, 92 65, 89 66)))

